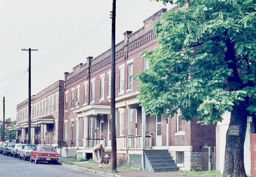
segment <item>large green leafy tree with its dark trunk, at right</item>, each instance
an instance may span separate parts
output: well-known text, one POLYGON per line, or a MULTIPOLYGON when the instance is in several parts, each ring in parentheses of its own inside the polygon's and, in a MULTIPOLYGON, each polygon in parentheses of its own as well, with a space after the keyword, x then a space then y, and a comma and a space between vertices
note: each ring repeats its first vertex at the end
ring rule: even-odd
POLYGON ((139 102, 150 114, 180 109, 184 120, 212 124, 231 112, 240 134, 226 136, 223 176, 246 176, 246 120, 256 112, 255 27, 254 0, 189 1, 155 25, 158 47, 145 52, 150 69, 138 74, 139 102))

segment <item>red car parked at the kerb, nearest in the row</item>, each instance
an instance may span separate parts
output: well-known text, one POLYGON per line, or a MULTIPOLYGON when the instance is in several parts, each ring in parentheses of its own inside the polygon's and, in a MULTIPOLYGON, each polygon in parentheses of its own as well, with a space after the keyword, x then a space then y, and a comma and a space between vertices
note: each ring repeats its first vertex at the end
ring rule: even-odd
POLYGON ((53 146, 36 146, 36 148, 30 152, 30 162, 49 162, 57 164, 59 160, 59 153, 55 151, 53 146))

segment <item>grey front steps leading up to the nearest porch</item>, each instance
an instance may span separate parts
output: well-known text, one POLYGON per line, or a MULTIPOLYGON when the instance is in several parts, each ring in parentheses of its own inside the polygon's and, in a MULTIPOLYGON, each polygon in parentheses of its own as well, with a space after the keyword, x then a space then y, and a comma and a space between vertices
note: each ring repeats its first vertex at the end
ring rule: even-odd
POLYGON ((168 150, 144 150, 145 168, 152 172, 178 171, 168 150))

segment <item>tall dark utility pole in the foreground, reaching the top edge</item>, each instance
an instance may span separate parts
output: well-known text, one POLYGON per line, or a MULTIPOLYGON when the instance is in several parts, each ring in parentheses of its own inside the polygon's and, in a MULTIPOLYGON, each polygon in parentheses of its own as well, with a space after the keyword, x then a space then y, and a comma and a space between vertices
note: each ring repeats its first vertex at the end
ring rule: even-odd
POLYGON ((112 37, 111 37, 111 170, 117 171, 116 149, 116 0, 113 0, 111 11, 112 37))

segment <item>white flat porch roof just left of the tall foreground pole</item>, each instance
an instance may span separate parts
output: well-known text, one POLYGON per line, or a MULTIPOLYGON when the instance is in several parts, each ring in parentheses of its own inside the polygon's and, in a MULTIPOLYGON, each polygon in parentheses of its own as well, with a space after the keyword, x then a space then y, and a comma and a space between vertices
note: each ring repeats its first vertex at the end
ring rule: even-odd
POLYGON ((110 103, 94 104, 94 105, 84 106, 73 112, 77 113, 77 117, 83 117, 83 116, 97 115, 97 114, 110 114, 111 108, 110 108, 110 103))

